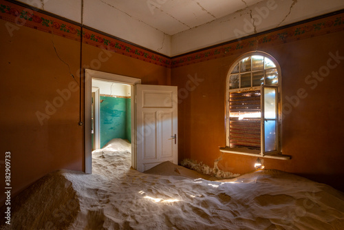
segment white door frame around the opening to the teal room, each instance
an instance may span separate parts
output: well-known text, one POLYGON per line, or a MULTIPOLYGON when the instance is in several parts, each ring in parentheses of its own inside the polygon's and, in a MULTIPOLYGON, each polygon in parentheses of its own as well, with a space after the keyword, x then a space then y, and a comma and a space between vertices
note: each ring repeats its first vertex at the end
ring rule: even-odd
POLYGON ((110 74, 96 70, 85 70, 85 173, 92 174, 92 79, 100 79, 130 85, 131 88, 131 166, 136 169, 136 90, 141 79, 110 74))

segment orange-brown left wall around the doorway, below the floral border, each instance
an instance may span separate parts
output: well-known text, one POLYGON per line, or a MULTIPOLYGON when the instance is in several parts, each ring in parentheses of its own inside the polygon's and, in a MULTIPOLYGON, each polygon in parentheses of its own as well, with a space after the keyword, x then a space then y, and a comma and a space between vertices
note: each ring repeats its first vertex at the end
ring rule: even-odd
MULTIPOLYGON (((33 30, 25 26, 6 29, 7 21, 0 20, 1 70, 1 160, 11 152, 12 196, 45 174, 57 169, 84 170, 84 126, 80 120, 80 42, 62 36, 33 30), (54 41, 54 44, 52 43, 54 41), (76 83, 69 74, 70 67, 76 83), (72 84, 72 90, 69 90, 72 84), (58 92, 66 92, 67 100, 58 101, 58 92), (55 101, 54 101, 55 100, 55 101), (56 111, 45 113, 48 103, 63 103, 56 111), (42 115, 41 114, 41 115, 42 115), (44 116, 44 115, 43 115, 44 116)), ((83 44, 83 67, 142 79, 143 84, 169 85, 171 70, 129 56, 108 52, 83 44), (102 53, 103 62, 95 65, 102 53), (107 61, 104 61, 106 57, 107 61), (93 63, 93 64, 92 64, 93 63)), ((82 79, 81 86, 85 83, 82 79)), ((84 91, 82 91, 83 93, 84 91)), ((58 104, 57 104, 58 105, 58 104)), ((84 97, 81 98, 81 121, 84 119, 84 97)), ((51 109, 51 108, 50 108, 51 109)), ((83 121, 84 122, 84 121, 83 121)), ((1 175, 5 175, 1 165, 1 175)), ((4 176, 3 176, 4 177, 4 176)), ((3 203, 4 180, 1 180, 3 203)), ((0 204, 1 206, 1 204, 0 204)))

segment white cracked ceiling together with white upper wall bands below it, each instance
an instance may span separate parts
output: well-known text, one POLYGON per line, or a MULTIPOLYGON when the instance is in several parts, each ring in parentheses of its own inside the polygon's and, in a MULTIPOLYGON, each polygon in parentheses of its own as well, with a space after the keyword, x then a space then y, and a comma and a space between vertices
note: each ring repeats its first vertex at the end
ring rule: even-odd
POLYGON ((344 9, 343 0, 19 1, 166 56, 344 9))

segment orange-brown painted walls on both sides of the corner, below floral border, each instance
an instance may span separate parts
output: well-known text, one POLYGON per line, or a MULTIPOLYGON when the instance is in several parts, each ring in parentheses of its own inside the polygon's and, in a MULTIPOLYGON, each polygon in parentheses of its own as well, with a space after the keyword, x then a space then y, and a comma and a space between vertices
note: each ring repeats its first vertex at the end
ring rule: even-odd
MULTIPOLYGON (((11 36, 7 23, 0 20, 3 99, 0 145, 3 158, 0 160, 4 160, 6 151, 11 152, 12 196, 51 171, 84 170, 85 127, 78 125, 79 121, 84 122, 85 115, 85 83, 78 74, 80 60, 83 69, 136 77, 142 79, 143 84, 172 84, 178 85, 179 90, 184 89, 180 91, 178 108, 179 160, 191 158, 213 166, 214 160, 222 156, 218 166, 224 171, 244 174, 253 169, 255 157, 219 152, 219 147, 226 143, 226 75, 240 53, 170 69, 115 52, 105 53, 94 44, 83 43, 80 52, 80 41, 25 26, 13 30, 11 36), (92 65, 99 63, 94 60, 99 60, 100 56, 103 60, 100 65, 92 65), (70 76, 69 68, 80 83, 81 98, 80 88, 70 76), (195 81, 195 74, 202 81, 195 81), (190 91, 193 88, 195 90, 190 91), (68 94, 66 100, 58 101, 60 95, 57 90, 68 91, 70 96, 68 94), (61 103, 61 106, 56 111, 49 110, 49 118, 42 118, 40 123, 36 113, 45 114, 46 103, 61 103)), ((344 127, 341 118, 344 107, 341 85, 344 60, 316 89, 310 90, 310 85, 305 85, 304 81, 308 74, 326 64, 329 52, 338 50, 344 56, 343 37, 342 30, 281 45, 258 47, 258 50, 274 56, 281 65, 283 103, 286 103, 286 96, 295 95, 300 87, 307 89, 309 94, 292 109, 292 113, 283 117, 283 154, 291 155, 292 160, 266 159, 266 167, 300 174, 342 190, 344 142, 341 138, 344 127)), ((3 169, 1 164, 1 175, 5 175, 3 169)), ((4 194, 4 182, 1 180, 0 183, 1 194, 4 194)), ((3 199, 1 195, 1 203, 3 199)))

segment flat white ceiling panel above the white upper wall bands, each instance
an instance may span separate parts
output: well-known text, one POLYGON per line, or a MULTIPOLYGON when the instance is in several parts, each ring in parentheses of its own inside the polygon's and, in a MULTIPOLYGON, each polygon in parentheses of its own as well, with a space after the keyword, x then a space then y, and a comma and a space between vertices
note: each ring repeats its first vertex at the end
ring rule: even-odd
POLYGON ((100 0, 133 19, 173 35, 263 0, 100 0))

